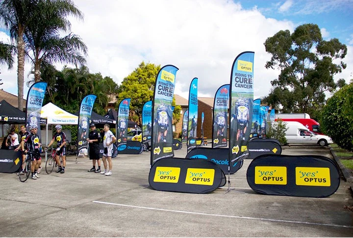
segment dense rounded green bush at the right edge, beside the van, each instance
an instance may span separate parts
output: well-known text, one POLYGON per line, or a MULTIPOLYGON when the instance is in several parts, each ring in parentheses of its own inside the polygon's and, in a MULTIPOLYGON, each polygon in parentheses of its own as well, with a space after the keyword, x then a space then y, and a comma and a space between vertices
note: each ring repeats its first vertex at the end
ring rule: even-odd
POLYGON ((353 82, 342 87, 322 111, 320 127, 341 148, 353 151, 353 82), (347 109, 349 108, 349 109, 347 109))

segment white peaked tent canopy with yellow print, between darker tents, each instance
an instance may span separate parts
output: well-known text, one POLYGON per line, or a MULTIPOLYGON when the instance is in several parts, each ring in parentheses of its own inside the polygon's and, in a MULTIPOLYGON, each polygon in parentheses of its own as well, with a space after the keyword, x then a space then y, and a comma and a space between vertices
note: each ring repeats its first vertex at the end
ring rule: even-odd
POLYGON ((48 124, 77 125, 78 116, 75 116, 52 103, 42 106, 41 117, 47 118, 48 124))

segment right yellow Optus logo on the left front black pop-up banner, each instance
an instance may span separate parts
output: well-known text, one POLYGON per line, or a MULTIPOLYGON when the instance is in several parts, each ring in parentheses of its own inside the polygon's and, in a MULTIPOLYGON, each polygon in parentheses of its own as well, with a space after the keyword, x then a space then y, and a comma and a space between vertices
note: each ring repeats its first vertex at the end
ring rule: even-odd
POLYGON ((188 168, 185 184, 213 185, 214 173, 214 169, 188 168))

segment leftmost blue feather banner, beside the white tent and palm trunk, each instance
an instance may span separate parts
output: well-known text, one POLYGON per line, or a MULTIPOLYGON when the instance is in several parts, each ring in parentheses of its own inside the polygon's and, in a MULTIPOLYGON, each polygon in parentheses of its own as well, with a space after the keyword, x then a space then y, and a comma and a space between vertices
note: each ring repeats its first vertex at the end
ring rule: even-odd
POLYGON ((30 126, 38 127, 39 142, 41 141, 40 115, 46 89, 46 82, 36 82, 29 88, 27 94, 26 130, 30 132, 30 126))

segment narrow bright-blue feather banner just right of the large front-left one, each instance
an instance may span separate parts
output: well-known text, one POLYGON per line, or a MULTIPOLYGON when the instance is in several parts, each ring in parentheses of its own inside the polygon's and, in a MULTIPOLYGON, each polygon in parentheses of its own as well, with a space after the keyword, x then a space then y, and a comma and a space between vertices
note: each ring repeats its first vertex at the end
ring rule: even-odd
POLYGON ((198 78, 190 83, 189 90, 189 116, 188 116, 188 141, 187 152, 196 148, 197 119, 198 119, 198 78))

